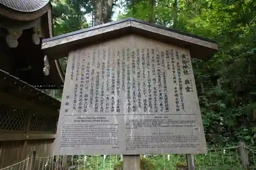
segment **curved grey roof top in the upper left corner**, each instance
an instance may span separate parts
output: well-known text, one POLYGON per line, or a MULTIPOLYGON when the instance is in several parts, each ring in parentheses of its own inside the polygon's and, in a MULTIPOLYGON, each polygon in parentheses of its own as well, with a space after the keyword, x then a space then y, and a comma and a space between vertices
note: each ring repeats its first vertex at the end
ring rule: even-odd
POLYGON ((49 0, 0 0, 0 4, 20 12, 34 12, 48 3, 49 0))

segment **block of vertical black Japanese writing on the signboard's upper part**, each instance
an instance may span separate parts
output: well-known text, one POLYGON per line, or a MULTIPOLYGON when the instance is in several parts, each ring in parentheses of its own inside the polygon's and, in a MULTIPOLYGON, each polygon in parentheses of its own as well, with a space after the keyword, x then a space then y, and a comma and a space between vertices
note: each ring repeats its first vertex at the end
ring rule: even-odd
POLYGON ((193 92, 189 66, 188 56, 172 48, 94 48, 77 52, 71 60, 75 82, 72 110, 120 113, 126 101, 127 113, 168 113, 173 109, 169 99, 173 93, 175 111, 186 112, 184 92, 193 92), (167 87, 168 79, 172 79, 172 86, 167 87))

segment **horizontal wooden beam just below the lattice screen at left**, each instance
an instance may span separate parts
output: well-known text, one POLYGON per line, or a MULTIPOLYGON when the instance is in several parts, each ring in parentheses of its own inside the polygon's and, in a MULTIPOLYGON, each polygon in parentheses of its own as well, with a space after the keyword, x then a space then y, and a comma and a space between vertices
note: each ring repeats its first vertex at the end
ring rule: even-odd
POLYGON ((55 134, 3 134, 0 141, 9 140, 35 140, 35 139, 55 139, 55 134))

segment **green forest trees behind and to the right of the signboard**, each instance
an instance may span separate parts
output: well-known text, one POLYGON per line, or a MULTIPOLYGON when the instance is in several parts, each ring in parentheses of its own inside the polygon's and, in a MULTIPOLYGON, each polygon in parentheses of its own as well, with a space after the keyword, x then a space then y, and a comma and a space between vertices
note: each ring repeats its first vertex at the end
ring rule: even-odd
MULTIPOLYGON (((256 1, 52 0, 54 35, 134 17, 214 39, 218 53, 193 59, 208 145, 256 143, 256 1), (119 12, 118 12, 119 11, 119 12), (113 17, 113 14, 115 17, 113 17)), ((63 72, 67 58, 60 59, 63 72)), ((62 91, 55 94, 61 99, 62 91)))

